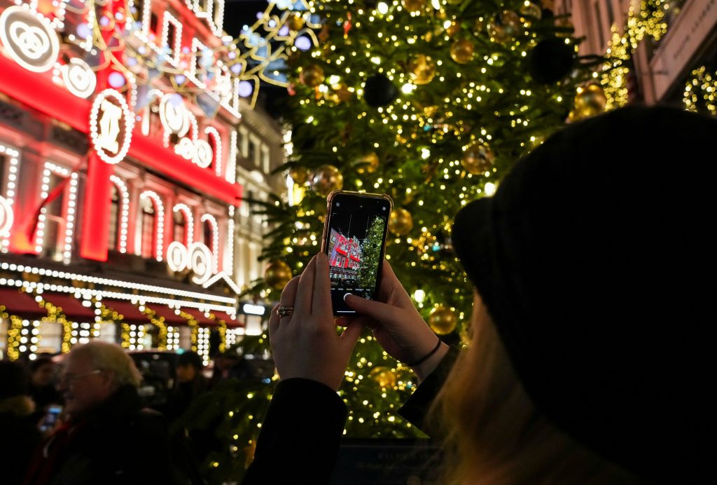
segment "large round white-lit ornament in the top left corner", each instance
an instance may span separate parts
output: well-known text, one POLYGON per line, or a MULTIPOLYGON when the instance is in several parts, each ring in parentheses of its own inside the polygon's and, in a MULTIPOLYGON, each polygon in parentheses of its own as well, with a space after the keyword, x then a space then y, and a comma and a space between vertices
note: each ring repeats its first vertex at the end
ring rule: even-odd
POLYGON ((9 6, 0 15, 0 40, 12 60, 32 72, 52 69, 60 41, 48 19, 27 6, 9 6))

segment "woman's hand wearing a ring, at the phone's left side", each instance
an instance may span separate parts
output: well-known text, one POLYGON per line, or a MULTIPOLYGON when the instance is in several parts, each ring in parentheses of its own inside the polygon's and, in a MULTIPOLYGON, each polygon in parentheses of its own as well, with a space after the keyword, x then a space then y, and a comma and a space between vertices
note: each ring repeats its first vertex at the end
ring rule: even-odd
POLYGON ((281 293, 269 319, 269 340, 282 379, 303 377, 338 390, 363 326, 352 321, 338 335, 331 308, 328 258, 315 255, 301 276, 281 293), (279 306, 293 306, 290 316, 279 316, 279 306))

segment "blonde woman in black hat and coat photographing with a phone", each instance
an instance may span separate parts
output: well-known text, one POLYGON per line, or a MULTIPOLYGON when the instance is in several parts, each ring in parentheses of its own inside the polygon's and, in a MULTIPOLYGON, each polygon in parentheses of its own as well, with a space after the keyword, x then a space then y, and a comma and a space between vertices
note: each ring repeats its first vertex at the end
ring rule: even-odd
POLYGON ((445 441, 441 483, 710 481, 716 134, 681 110, 616 110, 557 133, 461 209, 452 241, 475 303, 457 359, 387 263, 377 301, 346 298, 361 316, 339 336, 317 255, 270 319, 281 381, 244 483, 328 483, 346 419, 336 390, 363 326, 414 364, 402 415, 445 441))

